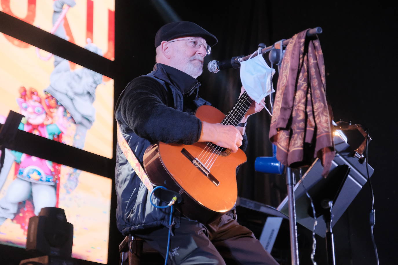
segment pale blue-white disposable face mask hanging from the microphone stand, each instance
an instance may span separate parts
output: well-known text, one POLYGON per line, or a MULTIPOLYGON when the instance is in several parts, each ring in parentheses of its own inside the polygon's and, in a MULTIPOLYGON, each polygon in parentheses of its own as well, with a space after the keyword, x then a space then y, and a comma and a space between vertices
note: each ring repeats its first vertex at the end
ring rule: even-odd
POLYGON ((261 54, 240 62, 240 80, 248 95, 257 103, 275 92, 271 79, 275 69, 270 68, 261 54))

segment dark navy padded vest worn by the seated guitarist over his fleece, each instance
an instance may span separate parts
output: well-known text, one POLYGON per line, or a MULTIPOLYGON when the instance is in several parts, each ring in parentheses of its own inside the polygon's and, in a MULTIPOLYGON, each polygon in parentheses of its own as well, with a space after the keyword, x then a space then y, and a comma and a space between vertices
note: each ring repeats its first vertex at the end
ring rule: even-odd
MULTIPOLYGON (((164 89, 166 89, 169 107, 183 111, 184 95, 178 87, 173 85, 172 81, 168 79, 163 71, 161 67, 158 67, 156 70, 144 76, 156 79, 164 89), (174 106, 170 106, 172 102, 174 106)), ((197 82, 197 84, 199 85, 199 82, 197 82)), ((125 90, 123 90, 116 103, 116 110, 124 93, 125 90)), ((201 106, 203 104, 210 103, 197 97, 195 105, 201 106)), ((125 129, 121 130, 121 132, 142 165, 144 152, 151 143, 147 139, 136 135, 132 130, 125 129)), ((148 189, 142 184, 137 174, 135 174, 133 168, 121 151, 119 144, 117 144, 116 148, 115 184, 118 200, 116 209, 117 228, 123 235, 146 228, 168 226, 168 211, 170 211, 170 209, 155 208, 147 201, 148 189)), ((156 205, 161 205, 156 197, 153 197, 152 201, 156 205)), ((176 227, 179 226, 179 219, 180 214, 178 211, 175 211, 173 221, 176 227)))

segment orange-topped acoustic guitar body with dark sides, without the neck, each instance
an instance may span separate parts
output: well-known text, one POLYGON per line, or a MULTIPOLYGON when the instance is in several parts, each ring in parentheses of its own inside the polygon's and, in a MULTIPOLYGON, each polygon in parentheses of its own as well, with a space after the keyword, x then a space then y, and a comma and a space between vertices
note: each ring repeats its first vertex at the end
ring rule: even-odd
MULTIPOLYGON (((200 106, 195 116, 209 123, 220 123, 225 117, 209 105, 200 106)), ((144 168, 150 181, 181 194, 182 203, 176 204, 176 208, 202 223, 214 221, 234 207, 238 195, 236 168, 246 162, 241 149, 236 153, 217 149, 207 142, 158 142, 144 153, 144 168)))

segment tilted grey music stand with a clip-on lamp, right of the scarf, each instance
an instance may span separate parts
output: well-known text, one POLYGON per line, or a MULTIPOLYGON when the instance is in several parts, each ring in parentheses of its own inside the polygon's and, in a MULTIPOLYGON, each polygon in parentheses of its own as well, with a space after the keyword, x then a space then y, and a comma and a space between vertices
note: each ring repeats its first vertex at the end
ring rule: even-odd
MULTIPOLYGON (((324 211, 324 207, 327 207, 329 201, 332 202, 333 222, 329 222, 328 218, 326 218, 327 221, 325 221, 325 218, 317 218, 318 224, 315 233, 323 238, 326 236, 327 230, 331 233, 334 224, 336 224, 367 182, 366 164, 363 160, 353 157, 353 150, 347 144, 347 138, 339 130, 335 131, 334 143, 336 156, 332 161, 328 178, 324 179, 322 177, 323 166, 321 162, 316 159, 304 173, 302 179, 299 180, 293 188, 297 222, 311 231, 315 219, 312 214, 310 201, 306 196, 306 191, 308 191, 314 199, 317 217, 326 217, 330 211, 324 211)), ((369 176, 371 176, 373 172, 374 169, 369 166, 369 176)), ((285 197, 277 207, 278 211, 286 215, 288 214, 287 202, 288 198, 285 197)), ((333 241, 333 237, 331 239, 333 241)), ((329 242, 327 245, 329 248, 332 247, 333 244, 329 242)), ((328 253, 328 257, 330 257, 330 259, 332 259, 332 257, 334 258, 333 253, 328 253)))

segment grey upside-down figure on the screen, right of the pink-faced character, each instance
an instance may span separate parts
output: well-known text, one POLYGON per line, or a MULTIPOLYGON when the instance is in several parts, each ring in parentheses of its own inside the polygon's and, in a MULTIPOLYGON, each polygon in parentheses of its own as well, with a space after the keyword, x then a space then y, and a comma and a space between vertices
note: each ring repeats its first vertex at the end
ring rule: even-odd
MULTIPOLYGON (((58 37, 67 40, 63 17, 69 8, 76 5, 74 0, 56 0, 53 2, 53 30, 58 37), (66 8, 63 8, 66 5, 66 8)), ((91 39, 87 39, 84 47, 102 56, 102 51, 91 39)), ((102 75, 87 68, 70 69, 70 63, 54 55, 54 70, 50 76, 50 85, 44 90, 51 94, 57 103, 70 114, 69 121, 76 128, 72 137, 72 146, 83 149, 87 131, 95 121, 96 109, 93 103, 96 99, 96 88, 102 83, 102 75)), ((61 112, 61 110, 60 110, 61 112)), ((69 136, 69 135, 68 135, 69 136)), ((81 170, 71 168, 64 188, 67 193, 72 192, 77 184, 81 170)))

